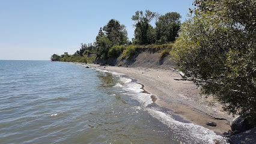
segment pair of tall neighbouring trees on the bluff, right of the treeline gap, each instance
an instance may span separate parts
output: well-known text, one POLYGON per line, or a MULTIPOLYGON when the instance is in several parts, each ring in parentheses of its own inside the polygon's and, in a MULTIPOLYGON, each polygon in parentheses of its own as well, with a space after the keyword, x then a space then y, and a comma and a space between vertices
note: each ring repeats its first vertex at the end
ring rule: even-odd
POLYGON ((171 12, 158 16, 159 14, 149 10, 146 10, 145 14, 136 11, 135 16, 132 16, 132 20, 136 22, 133 44, 165 44, 175 41, 180 29, 180 14, 171 12), (157 18, 156 28, 150 25, 154 18, 157 18))

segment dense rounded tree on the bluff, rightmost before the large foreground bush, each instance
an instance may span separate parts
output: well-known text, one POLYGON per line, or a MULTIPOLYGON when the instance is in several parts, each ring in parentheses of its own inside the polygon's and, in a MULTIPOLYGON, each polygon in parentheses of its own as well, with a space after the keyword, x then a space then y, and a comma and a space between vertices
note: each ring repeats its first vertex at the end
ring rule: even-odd
POLYGON ((160 16, 156 22, 156 41, 159 44, 175 41, 180 29, 180 14, 176 12, 166 13, 160 16))

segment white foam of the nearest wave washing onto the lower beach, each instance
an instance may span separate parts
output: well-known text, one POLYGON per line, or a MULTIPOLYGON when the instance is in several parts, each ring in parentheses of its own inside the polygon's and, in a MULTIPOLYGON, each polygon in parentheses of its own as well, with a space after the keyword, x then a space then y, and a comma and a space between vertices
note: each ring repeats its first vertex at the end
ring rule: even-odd
POLYGON ((189 143, 212 143, 214 139, 219 142, 227 143, 225 137, 218 136, 214 131, 204 128, 200 125, 192 123, 183 123, 175 121, 171 116, 166 113, 147 108, 148 113, 154 118, 159 119, 160 122, 167 125, 178 137, 189 143), (193 141, 193 142, 192 142, 193 141))

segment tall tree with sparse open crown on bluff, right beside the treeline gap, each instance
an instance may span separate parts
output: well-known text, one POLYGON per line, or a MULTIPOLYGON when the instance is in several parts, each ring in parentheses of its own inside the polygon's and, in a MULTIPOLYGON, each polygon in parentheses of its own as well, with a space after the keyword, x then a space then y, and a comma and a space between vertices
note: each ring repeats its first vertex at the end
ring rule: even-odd
MULTIPOLYGON (((157 16, 157 13, 151 12, 150 10, 145 10, 145 14, 143 11, 136 11, 135 15, 132 16, 132 20, 135 21, 135 40, 138 44, 152 44, 148 38, 151 38, 154 34, 152 32, 152 27, 150 27, 150 22, 157 16), (150 30, 148 30, 150 29, 150 30), (149 33, 149 34, 148 34, 149 33)), ((154 36, 153 36, 154 37, 154 36)))

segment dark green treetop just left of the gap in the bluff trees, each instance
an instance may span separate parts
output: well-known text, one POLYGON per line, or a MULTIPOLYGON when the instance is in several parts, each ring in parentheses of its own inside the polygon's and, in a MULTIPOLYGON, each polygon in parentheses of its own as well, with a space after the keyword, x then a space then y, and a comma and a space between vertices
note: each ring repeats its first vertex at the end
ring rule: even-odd
POLYGON ((112 46, 120 46, 128 42, 126 26, 120 25, 118 20, 109 20, 108 24, 103 27, 103 31, 106 32, 106 36, 111 41, 112 46))

